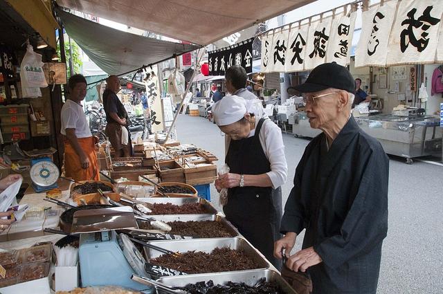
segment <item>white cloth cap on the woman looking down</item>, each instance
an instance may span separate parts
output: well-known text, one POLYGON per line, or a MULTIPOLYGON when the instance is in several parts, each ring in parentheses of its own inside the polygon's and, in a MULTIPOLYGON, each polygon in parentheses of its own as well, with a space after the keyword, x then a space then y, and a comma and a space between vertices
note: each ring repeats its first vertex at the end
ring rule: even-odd
POLYGON ((227 95, 214 104, 212 113, 217 126, 238 122, 246 114, 246 101, 237 95, 227 95))

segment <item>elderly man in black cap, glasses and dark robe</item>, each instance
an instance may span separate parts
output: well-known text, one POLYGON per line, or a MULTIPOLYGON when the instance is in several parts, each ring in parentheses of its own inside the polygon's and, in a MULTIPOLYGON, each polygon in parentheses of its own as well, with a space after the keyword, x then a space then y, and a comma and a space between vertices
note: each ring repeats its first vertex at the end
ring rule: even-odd
POLYGON ((274 255, 307 272, 313 293, 376 293, 388 231, 388 157, 351 115, 354 78, 345 67, 321 64, 290 90, 305 93, 309 123, 323 133, 298 163, 274 255), (304 229, 302 250, 290 255, 304 229))

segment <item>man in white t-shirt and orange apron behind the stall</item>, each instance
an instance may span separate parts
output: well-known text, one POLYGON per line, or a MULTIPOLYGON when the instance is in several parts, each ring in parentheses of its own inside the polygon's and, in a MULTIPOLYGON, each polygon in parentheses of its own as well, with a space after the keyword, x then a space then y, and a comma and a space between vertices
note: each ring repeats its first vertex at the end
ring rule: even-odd
POLYGON ((91 134, 81 102, 86 97, 87 82, 83 75, 69 78, 69 99, 62 107, 64 135, 65 176, 75 181, 100 180, 100 171, 95 151, 95 138, 91 134))

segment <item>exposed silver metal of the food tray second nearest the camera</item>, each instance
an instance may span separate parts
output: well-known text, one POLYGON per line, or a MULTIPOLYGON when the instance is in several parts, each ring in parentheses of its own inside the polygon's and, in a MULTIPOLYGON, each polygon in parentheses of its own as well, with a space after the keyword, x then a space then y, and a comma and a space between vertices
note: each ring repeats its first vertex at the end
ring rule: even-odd
MULTIPOLYGON (((248 257, 251 257, 252 260, 256 261, 257 264, 259 264, 259 268, 257 269, 267 269, 269 268, 270 264, 268 261, 266 261, 265 257, 251 244, 249 244, 248 241, 246 241, 243 238, 234 237, 234 238, 212 238, 212 239, 186 239, 186 240, 178 240, 178 241, 150 241, 155 246, 172 250, 174 252, 187 252, 187 251, 203 251, 210 253, 215 248, 224 248, 228 247, 230 249, 242 249, 248 255, 248 257)), ((149 261, 152 258, 159 257, 160 255, 163 255, 162 252, 159 252, 157 250, 153 250, 151 248, 144 247, 145 250, 145 258, 147 261, 149 261)), ((243 272, 244 270, 237 270, 236 273, 243 272)), ((193 274, 195 275, 195 274, 193 274)), ((192 276, 192 275, 188 275, 192 276)))

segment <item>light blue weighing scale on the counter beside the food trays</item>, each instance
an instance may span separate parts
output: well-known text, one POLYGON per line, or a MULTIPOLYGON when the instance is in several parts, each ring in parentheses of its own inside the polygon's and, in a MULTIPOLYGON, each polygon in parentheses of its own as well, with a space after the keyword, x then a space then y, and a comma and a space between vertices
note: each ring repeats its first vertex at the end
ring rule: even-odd
POLYGON ((155 293, 154 288, 131 279, 134 272, 147 274, 143 256, 125 235, 118 236, 114 230, 80 234, 78 256, 82 287, 112 285, 155 293))

